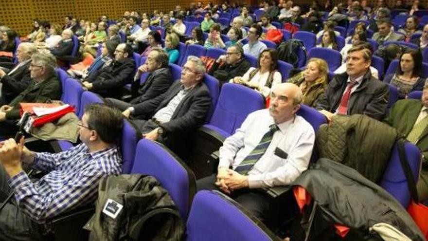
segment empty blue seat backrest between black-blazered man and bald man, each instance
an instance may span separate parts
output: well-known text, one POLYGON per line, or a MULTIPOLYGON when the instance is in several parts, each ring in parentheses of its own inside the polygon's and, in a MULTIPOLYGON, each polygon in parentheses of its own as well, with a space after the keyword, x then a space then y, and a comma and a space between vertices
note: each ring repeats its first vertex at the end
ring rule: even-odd
POLYGON ((260 93, 242 85, 225 83, 209 124, 232 135, 251 112, 263 108, 265 103, 260 93))

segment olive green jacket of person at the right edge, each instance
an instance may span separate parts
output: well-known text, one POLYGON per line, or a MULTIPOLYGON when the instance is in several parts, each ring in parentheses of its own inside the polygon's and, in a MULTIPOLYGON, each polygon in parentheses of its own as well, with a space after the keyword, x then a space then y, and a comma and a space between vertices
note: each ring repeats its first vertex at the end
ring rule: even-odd
MULTIPOLYGON (((399 100, 391 107, 385 122, 406 137, 413 128, 422 107, 420 100, 399 100)), ((416 146, 422 150, 424 166, 428 169, 428 127, 422 132, 421 138, 416 142, 416 146)))

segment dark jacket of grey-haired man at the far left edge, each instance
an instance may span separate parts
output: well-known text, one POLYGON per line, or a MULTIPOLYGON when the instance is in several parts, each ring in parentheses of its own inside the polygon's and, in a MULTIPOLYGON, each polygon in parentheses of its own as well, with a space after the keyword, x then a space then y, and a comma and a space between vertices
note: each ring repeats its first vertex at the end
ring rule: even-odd
POLYGON ((29 70, 30 64, 31 60, 20 66, 12 74, 6 74, 0 79, 3 84, 1 86, 2 104, 11 102, 30 85, 32 81, 29 70))

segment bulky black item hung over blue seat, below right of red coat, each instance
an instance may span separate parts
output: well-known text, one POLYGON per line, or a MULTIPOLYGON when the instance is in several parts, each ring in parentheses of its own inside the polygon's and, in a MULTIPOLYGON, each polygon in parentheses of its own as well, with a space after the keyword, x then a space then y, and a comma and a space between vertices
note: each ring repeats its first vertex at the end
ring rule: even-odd
POLYGON ((290 63, 297 68, 299 63, 299 53, 303 53, 304 61, 306 62, 306 48, 303 45, 303 41, 296 38, 288 39, 282 42, 278 46, 278 59, 290 63))

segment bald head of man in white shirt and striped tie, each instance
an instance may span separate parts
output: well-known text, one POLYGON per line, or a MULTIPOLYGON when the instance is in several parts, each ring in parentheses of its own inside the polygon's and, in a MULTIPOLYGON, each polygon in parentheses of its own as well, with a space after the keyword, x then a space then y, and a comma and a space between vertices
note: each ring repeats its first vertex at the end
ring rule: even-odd
POLYGON ((292 83, 281 83, 272 87, 269 113, 275 124, 294 118, 302 103, 302 91, 292 83))

